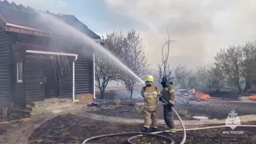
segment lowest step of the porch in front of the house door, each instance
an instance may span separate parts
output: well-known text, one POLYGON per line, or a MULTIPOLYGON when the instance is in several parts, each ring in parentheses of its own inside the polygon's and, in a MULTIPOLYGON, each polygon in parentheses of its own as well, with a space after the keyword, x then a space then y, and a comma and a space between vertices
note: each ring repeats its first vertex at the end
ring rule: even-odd
POLYGON ((72 103, 72 104, 66 104, 62 106, 55 106, 51 108, 45 108, 45 109, 38 109, 38 110, 32 110, 30 112, 31 116, 39 115, 39 114, 53 114, 53 113, 62 113, 65 111, 69 110, 74 110, 74 109, 81 109, 87 107, 86 104, 81 104, 81 103, 72 103))

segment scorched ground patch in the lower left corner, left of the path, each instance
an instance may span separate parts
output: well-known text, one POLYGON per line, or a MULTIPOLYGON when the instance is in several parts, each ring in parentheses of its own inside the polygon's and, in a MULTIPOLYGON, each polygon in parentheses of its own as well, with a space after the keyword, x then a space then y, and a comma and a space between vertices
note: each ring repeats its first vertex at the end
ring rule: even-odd
POLYGON ((29 116, 20 114, 0 115, 0 135, 17 124, 28 120, 29 116))

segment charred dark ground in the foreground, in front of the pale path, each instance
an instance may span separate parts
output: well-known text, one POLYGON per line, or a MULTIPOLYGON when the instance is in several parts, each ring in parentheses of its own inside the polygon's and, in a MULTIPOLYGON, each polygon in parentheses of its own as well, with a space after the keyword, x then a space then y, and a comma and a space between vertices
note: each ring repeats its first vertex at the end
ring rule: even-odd
MULTIPOLYGON (((256 124, 256 121, 247 124, 256 124)), ((209 125, 187 126, 205 127, 209 125)), ((107 122, 78 117, 73 114, 57 116, 41 126, 39 126, 30 136, 29 143, 82 143, 86 138, 102 134, 141 131, 142 124, 127 124, 118 122, 107 122)), ((180 126, 177 126, 180 128, 180 126)), ((159 126, 159 130, 166 130, 165 126, 159 126)), ((209 129, 200 131, 187 131, 188 144, 253 144, 256 138, 256 129, 249 127, 238 127, 236 130, 244 131, 244 134, 222 134, 222 131, 230 131, 230 128, 209 129)), ((166 134, 164 134, 166 135, 166 134)), ((90 143, 112 143, 126 144, 130 136, 119 136, 111 138, 101 138, 90 143)), ((175 143, 181 142, 182 132, 177 132, 172 138, 175 143)), ((165 139, 143 136, 133 140, 138 144, 163 144, 168 143, 165 139)))

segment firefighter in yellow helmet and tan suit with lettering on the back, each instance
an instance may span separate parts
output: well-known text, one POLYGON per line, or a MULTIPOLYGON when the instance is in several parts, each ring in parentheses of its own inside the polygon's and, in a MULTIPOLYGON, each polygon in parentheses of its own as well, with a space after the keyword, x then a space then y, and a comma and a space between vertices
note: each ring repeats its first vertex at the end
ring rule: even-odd
POLYGON ((144 127, 143 132, 149 133, 152 123, 152 132, 157 131, 157 98, 160 96, 160 90, 153 85, 154 77, 147 76, 145 87, 141 90, 144 97, 144 127))

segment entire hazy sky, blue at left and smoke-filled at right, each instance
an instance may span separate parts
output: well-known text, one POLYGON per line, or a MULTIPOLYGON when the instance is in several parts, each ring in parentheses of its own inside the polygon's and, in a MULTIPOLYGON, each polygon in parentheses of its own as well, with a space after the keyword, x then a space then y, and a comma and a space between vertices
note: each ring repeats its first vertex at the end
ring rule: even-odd
MULTIPOLYGON (((256 39, 255 0, 12 0, 53 13, 72 14, 98 35, 136 30, 151 69, 161 63, 167 36, 169 64, 190 68, 212 61, 220 48, 256 39)), ((12 2, 9 0, 9 2, 12 2)))

